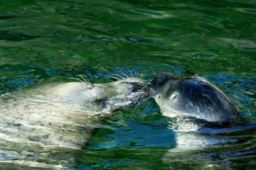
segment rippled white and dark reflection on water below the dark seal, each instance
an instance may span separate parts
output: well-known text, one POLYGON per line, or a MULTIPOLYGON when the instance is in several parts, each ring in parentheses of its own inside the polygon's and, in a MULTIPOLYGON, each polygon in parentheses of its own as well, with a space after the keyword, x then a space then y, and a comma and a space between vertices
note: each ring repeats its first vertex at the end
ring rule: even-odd
POLYGON ((255 138, 247 135, 249 131, 253 132, 252 136, 256 135, 255 123, 249 123, 242 118, 238 118, 229 125, 220 126, 202 124, 198 121, 196 124, 191 124, 191 121, 194 120, 176 121, 176 126, 179 126, 175 130, 176 147, 168 150, 162 157, 171 169, 219 169, 227 168, 227 165, 232 168, 241 168, 237 159, 256 155, 255 138), (185 129, 193 129, 188 126, 195 125, 197 130, 184 131, 184 126, 185 129), (177 131, 180 130, 179 128, 182 128, 182 132, 177 131))

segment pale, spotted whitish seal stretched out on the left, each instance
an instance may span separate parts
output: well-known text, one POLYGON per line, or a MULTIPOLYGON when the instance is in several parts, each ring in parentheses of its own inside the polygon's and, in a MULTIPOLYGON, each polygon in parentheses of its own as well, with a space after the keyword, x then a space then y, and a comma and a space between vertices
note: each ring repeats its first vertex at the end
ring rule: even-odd
POLYGON ((142 100, 141 79, 116 79, 51 83, 1 95, 1 167, 72 167, 72 155, 86 146, 106 116, 142 100))

